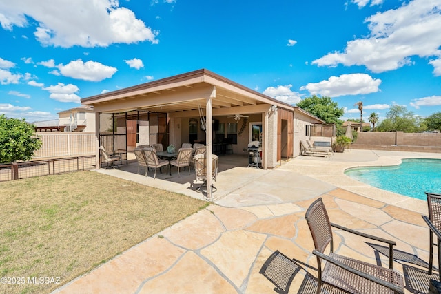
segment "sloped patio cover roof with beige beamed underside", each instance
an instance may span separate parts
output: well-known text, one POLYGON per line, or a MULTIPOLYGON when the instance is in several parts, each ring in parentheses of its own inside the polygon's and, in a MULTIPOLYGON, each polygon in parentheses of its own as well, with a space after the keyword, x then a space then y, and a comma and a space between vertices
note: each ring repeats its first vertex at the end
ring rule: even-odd
POLYGON ((81 103, 104 113, 146 110, 176 117, 199 116, 209 97, 216 116, 262 113, 268 105, 293 112, 299 109, 205 69, 83 98, 81 103))

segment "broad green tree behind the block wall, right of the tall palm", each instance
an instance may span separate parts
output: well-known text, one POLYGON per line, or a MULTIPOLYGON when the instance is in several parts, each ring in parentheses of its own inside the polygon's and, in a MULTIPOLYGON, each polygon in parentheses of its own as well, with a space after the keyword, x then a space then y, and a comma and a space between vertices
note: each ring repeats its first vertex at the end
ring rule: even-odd
POLYGON ((382 120, 378 126, 380 132, 402 131, 406 133, 416 133, 427 129, 422 118, 415 116, 413 112, 407 110, 405 106, 393 105, 386 114, 386 119, 382 120))

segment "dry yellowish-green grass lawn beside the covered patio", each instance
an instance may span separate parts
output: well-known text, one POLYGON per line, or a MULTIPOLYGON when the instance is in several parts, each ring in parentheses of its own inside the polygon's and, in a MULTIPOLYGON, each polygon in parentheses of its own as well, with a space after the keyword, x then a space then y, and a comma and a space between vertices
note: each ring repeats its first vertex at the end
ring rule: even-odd
POLYGON ((0 191, 1 276, 25 282, 0 293, 49 293, 207 206, 94 171, 0 182, 0 191), (61 284, 35 284, 41 277, 61 284))

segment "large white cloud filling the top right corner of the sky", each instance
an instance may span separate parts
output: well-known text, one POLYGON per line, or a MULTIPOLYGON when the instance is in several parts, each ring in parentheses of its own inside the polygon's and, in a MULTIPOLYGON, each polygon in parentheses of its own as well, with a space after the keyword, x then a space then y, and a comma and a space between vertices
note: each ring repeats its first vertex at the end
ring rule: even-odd
POLYGON ((367 38, 348 41, 345 52, 332 52, 312 63, 365 65, 371 72, 386 72, 411 65, 412 56, 440 56, 440 10, 439 0, 413 0, 395 10, 373 14, 366 19, 367 38))

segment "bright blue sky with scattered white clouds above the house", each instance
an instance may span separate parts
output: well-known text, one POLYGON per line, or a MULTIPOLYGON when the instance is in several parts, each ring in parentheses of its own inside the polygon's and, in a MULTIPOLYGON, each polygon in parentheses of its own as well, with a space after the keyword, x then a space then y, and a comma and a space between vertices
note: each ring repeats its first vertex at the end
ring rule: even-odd
POLYGON ((0 114, 29 122, 201 68, 342 119, 441 111, 441 0, 0 0, 0 24, 0 114))

